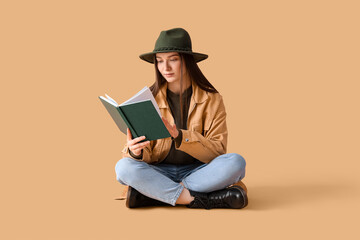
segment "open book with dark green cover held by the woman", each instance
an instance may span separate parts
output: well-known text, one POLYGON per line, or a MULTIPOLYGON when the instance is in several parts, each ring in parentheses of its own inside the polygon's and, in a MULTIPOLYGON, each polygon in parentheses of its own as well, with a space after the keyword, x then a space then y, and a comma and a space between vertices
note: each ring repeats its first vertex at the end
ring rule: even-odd
POLYGON ((133 138, 145 136, 143 141, 171 137, 161 120, 159 106, 148 87, 144 87, 129 100, 118 104, 105 94, 100 101, 121 132, 127 134, 130 129, 133 138))

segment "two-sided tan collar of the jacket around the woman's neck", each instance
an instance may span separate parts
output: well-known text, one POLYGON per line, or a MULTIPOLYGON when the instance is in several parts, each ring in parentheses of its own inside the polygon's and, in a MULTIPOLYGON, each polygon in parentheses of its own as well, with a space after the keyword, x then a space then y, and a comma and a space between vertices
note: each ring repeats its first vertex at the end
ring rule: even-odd
MULTIPOLYGON (((203 103, 208 98, 207 92, 202 90, 194 81, 191 81, 193 94, 191 96, 190 105, 193 103, 203 103)), ((159 105, 159 108, 169 108, 169 104, 166 101, 166 90, 168 82, 165 82, 164 85, 160 87, 158 94, 156 95, 156 101, 159 105)))

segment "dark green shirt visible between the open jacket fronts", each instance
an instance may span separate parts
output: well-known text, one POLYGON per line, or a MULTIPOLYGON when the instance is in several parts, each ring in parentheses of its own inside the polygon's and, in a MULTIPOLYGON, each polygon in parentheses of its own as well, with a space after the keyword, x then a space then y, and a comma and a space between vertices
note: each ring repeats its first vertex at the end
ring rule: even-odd
POLYGON ((190 99, 192 95, 192 87, 184 91, 182 94, 182 103, 183 103, 183 124, 181 124, 181 109, 180 109, 180 95, 171 92, 169 89, 166 91, 166 100, 169 103, 171 113, 174 117, 176 128, 179 130, 179 136, 172 141, 169 154, 166 156, 164 161, 161 163, 183 165, 190 164, 198 161, 196 158, 190 156, 189 154, 177 150, 175 148, 175 143, 177 145, 181 144, 182 141, 182 132, 180 129, 187 129, 187 118, 189 113, 190 99))

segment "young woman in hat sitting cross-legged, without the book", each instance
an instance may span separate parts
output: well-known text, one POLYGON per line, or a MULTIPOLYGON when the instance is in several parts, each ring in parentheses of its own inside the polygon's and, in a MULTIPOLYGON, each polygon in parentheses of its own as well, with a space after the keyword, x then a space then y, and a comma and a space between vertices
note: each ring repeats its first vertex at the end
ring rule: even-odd
POLYGON ((153 52, 140 55, 155 65, 151 91, 171 138, 132 139, 128 130, 117 180, 129 186, 126 206, 176 204, 189 208, 243 208, 248 199, 245 160, 226 154, 226 111, 222 96, 199 69, 206 54, 192 51, 182 28, 162 31, 153 52))

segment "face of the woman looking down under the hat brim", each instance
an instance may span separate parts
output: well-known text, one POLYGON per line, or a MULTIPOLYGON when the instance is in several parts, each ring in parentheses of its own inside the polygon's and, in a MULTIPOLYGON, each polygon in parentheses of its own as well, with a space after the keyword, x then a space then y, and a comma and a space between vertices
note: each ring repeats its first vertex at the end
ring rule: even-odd
MULTIPOLYGON (((169 83, 180 82, 181 59, 177 52, 156 53, 157 68, 169 83)), ((186 75, 183 64, 183 75, 186 75)))

